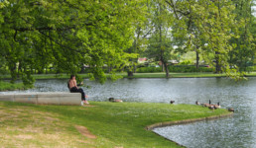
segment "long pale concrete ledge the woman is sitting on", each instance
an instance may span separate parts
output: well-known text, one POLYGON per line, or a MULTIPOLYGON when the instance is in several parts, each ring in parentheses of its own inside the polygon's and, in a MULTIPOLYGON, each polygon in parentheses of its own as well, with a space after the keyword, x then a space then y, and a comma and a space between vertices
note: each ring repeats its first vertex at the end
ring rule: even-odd
POLYGON ((0 94, 0 101, 30 103, 37 105, 72 105, 80 106, 80 93, 40 92, 0 94))

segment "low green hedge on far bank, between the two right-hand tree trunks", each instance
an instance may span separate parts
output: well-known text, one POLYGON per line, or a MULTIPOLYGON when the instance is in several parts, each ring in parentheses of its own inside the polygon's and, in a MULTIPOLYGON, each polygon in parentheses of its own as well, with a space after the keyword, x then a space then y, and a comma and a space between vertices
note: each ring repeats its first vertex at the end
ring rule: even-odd
POLYGON ((213 72, 213 68, 208 67, 198 67, 196 69, 195 66, 169 66, 170 72, 213 72))

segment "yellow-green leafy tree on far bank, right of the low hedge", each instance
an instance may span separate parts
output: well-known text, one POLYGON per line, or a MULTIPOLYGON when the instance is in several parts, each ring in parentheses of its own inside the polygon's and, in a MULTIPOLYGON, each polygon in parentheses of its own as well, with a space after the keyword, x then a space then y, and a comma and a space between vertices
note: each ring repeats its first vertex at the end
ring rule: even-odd
MULTIPOLYGON (((231 28, 236 26, 235 15, 232 13, 234 5, 231 0, 166 0, 172 8, 180 26, 184 31, 188 48, 201 46, 204 56, 214 54, 215 72, 225 71, 230 74, 228 52, 233 48, 229 39, 236 35, 231 34, 231 28)), ((178 33, 179 36, 179 33, 178 33)), ((210 59, 210 58, 207 58, 210 59)))

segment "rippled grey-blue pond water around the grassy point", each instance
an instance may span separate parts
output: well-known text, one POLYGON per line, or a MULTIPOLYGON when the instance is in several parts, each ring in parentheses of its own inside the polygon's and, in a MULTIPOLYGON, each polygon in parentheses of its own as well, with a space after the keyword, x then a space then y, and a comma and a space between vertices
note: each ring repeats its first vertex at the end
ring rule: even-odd
MULTIPOLYGON (((67 80, 38 80, 22 92, 67 92, 67 80)), ((256 148, 256 78, 234 82, 225 78, 121 79, 104 85, 84 80, 89 101, 108 98, 125 102, 193 104, 220 102, 234 108, 233 117, 156 128, 153 131, 186 147, 256 148)), ((20 92, 20 91, 17 91, 20 92)), ((0 92, 8 93, 8 92, 0 92)), ((11 93, 11 92, 9 92, 11 93)))

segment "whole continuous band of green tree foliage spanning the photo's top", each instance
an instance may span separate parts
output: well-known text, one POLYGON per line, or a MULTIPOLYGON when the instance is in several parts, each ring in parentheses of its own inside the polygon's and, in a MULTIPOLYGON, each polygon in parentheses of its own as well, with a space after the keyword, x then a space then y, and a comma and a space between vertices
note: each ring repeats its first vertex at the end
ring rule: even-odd
MULTIPOLYGON (((0 72, 31 85, 33 70, 106 80, 142 51, 167 61, 194 50, 216 72, 243 72, 255 54, 253 0, 0 0, 0 72), (149 38, 148 42, 145 38, 149 38), (244 66, 245 65, 245 66, 244 66)), ((149 55, 149 54, 148 54, 149 55)), ((168 74, 167 74, 168 76, 168 74)))

